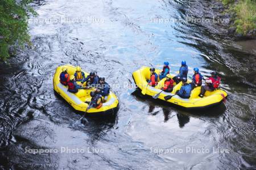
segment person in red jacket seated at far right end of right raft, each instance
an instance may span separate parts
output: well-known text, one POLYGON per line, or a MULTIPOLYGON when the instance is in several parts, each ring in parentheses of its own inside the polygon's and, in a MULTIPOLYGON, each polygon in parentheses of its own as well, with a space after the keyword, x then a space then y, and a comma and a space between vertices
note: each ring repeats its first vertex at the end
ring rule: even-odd
POLYGON ((214 91, 220 85, 220 76, 217 75, 216 71, 210 73, 210 78, 205 80, 205 85, 201 86, 201 92, 199 97, 204 97, 206 91, 214 91))

